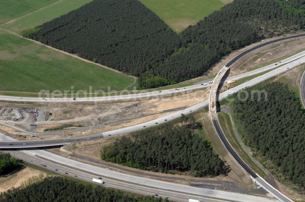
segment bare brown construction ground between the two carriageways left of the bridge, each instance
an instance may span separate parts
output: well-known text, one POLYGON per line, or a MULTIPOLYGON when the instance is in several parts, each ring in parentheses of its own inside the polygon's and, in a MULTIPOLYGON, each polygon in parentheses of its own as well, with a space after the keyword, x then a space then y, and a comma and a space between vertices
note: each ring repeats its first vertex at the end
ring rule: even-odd
MULTIPOLYGON (((169 95, 128 102, 103 102, 97 105, 92 105, 92 103, 44 103, 44 105, 40 106, 37 104, 39 116, 37 117, 38 120, 34 122, 34 127, 30 126, 30 123, 33 123, 32 115, 26 112, 34 110, 34 107, 23 108, 23 120, 18 122, 6 120, 5 123, 34 131, 44 131, 46 128, 59 127, 67 123, 73 123, 75 126, 113 124, 112 126, 107 125, 103 127, 102 130, 94 130, 95 132, 101 132, 165 116, 170 112, 186 108, 207 99, 208 93, 209 89, 205 88, 195 92, 187 92, 186 94, 180 93, 177 96, 169 95), (168 103, 171 104, 169 105, 168 103), (49 113, 52 115, 49 116, 49 113), (114 121, 116 123, 113 123, 114 121)), ((13 106, 18 105, 14 104, 13 106)), ((22 103, 19 106, 22 106, 22 103)), ((88 133, 86 132, 85 134, 88 133)))

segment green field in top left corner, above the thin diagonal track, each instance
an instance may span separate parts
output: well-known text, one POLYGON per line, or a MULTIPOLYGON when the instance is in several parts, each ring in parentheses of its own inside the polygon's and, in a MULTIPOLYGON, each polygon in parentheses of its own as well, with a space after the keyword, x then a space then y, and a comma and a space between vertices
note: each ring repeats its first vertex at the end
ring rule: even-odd
POLYGON ((57 1, 59 0, 2 0, 0 9, 0 25, 51 5, 57 1))

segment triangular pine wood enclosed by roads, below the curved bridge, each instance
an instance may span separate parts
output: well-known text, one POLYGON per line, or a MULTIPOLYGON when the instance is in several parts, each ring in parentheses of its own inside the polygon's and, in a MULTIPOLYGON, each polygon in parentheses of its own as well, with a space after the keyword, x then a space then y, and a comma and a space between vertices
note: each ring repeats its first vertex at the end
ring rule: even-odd
POLYGON ((197 177, 226 174, 228 166, 192 131, 196 127, 194 117, 183 116, 181 126, 167 124, 117 139, 103 147, 101 158, 154 172, 190 172, 197 177))

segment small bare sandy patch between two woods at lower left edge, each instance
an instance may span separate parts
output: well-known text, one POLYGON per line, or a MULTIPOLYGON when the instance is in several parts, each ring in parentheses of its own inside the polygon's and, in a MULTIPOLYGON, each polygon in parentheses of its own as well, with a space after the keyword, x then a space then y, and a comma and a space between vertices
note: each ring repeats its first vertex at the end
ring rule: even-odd
POLYGON ((46 176, 45 172, 26 167, 13 175, 10 175, 8 177, 1 177, 0 178, 0 192, 5 192, 9 189, 13 189, 13 187, 17 188, 17 187, 21 186, 21 184, 23 182, 27 181, 27 179, 29 179, 33 176, 38 177, 41 174, 43 176, 46 176))

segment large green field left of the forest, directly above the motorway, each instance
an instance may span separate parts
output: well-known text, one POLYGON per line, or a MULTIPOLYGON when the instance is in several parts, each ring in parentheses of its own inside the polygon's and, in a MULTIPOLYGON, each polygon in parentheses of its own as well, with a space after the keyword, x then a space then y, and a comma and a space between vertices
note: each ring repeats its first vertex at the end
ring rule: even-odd
POLYGON ((0 31, 0 90, 123 90, 134 79, 0 31))

